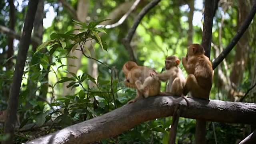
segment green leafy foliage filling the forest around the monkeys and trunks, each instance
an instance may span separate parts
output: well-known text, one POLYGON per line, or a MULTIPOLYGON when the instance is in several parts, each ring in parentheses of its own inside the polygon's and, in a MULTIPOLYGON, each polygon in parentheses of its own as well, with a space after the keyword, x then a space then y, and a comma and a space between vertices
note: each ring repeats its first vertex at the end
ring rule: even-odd
MULTIPOLYGON (((23 21, 25 18, 27 0, 16 2, 16 31, 21 33, 23 21)), ((66 0, 72 7, 76 9, 78 0, 66 0)), ((122 83, 122 72, 120 71, 124 62, 129 60, 126 49, 121 44, 122 38, 128 32, 134 22, 134 15, 141 10, 135 10, 134 14, 120 26, 106 30, 105 28, 96 27, 108 16, 113 8, 116 8, 124 0, 90 0, 90 8, 88 12, 87 23, 72 20, 69 11, 63 8, 56 0, 48 0, 45 2, 46 19, 47 12, 51 8, 56 12, 56 17, 53 20, 52 26, 44 30, 43 43, 38 46, 36 52, 29 51, 24 76, 22 80, 20 92, 20 130, 27 124, 35 126, 45 126, 50 123, 50 126, 45 130, 34 129, 22 132, 16 136, 16 142, 26 142, 26 140, 46 135, 55 132, 66 126, 83 122, 85 120, 100 116, 119 108, 126 104, 128 100, 135 97, 136 92, 130 88, 124 87, 122 83), (74 26, 80 28, 74 29, 74 26), (78 34, 75 32, 78 32, 78 34), (107 33, 100 36, 100 33, 107 33), (93 49, 96 57, 90 54, 90 51, 85 47, 85 42, 96 41, 93 49), (78 50, 83 53, 82 67, 77 74, 69 72, 67 69, 67 58, 77 59, 69 56, 70 52, 78 50), (98 64, 99 76, 93 78, 88 74, 88 59, 94 59, 98 64), (49 80, 44 77, 48 76, 49 80), (28 79, 36 84, 35 96, 30 98, 30 87, 28 79), (74 94, 67 96, 63 95, 64 82, 68 82, 66 88, 75 89, 74 94), (92 82, 95 87, 89 88, 88 84, 92 82), (43 86, 47 86, 47 96, 43 96, 43 86)), ((149 2, 149 1, 146 1, 149 2)), ((226 3, 224 3, 226 4, 226 3)), ((212 33, 212 42, 216 46, 228 45, 232 37, 236 34, 236 26, 238 24, 238 9, 237 4, 234 7, 228 5, 220 6, 214 17, 214 27, 212 33), (224 16, 224 22, 222 17, 224 16), (222 26, 222 35, 220 36, 220 25, 222 26)), ((8 2, 7 0, 0 2, 0 24, 8 27, 8 2)), ((132 40, 132 45, 136 57, 140 65, 150 66, 160 72, 164 67, 164 58, 168 55, 176 55, 179 58, 186 53, 188 42, 188 5, 185 1, 170 1, 162 0, 158 7, 152 9, 142 20, 136 30, 136 35, 132 40), (134 46, 135 45, 135 46, 134 46)), ((195 15, 202 11, 202 8, 196 8, 195 15)), ((200 18, 196 18, 200 19, 200 18)), ((199 23, 201 21, 199 20, 199 23)), ((238 90, 245 92, 251 83, 252 75, 254 74, 255 66, 255 22, 250 27, 250 54, 252 59, 248 62, 246 70, 243 74, 244 81, 237 86, 238 90)), ((195 43, 200 43, 202 38, 202 30, 200 24, 194 25, 194 40, 195 43)), ((14 56, 18 50, 18 42, 15 43, 14 56)), ((7 107, 8 90, 12 83, 13 70, 6 70, 6 52, 8 50, 8 36, 0 33, 0 109, 4 110, 7 107)), ((220 49, 221 50, 221 49, 220 49)), ((216 58, 216 49, 212 50, 211 59, 216 58)), ((232 51, 226 62, 228 68, 222 64, 221 68, 225 75, 229 77, 232 71, 233 61, 235 59, 235 51, 232 51)), ((12 59, 12 62, 15 60, 12 59)), ((74 66, 74 65, 70 65, 74 66)), ((181 65, 182 70, 183 67, 181 65)), ((215 74, 217 70, 215 71, 215 74)), ((214 79, 214 86, 211 92, 211 99, 227 100, 227 93, 221 90, 218 85, 218 76, 214 79)), ((165 84, 162 84, 162 90, 165 89, 165 84)), ((255 98, 250 96, 251 100, 255 98)), ((249 99, 249 100, 250 100, 249 99)), ((166 144, 172 118, 163 118, 142 123, 135 128, 120 134, 114 138, 102 140, 103 144, 107 143, 156 143, 166 144)), ((216 123, 215 129, 212 123, 209 123, 207 128, 207 142, 215 143, 214 132, 216 133, 218 143, 236 143, 236 140, 242 139, 244 126, 229 125, 216 123), (232 141, 230 141, 232 140, 232 141)), ((2 130, 2 129, 1 129, 2 130)), ((1 131, 2 132, 2 131, 1 131)), ((177 133, 177 142, 182 144, 191 144, 194 142, 195 120, 180 118, 177 133)), ((0 140, 6 136, 0 135, 0 140)))

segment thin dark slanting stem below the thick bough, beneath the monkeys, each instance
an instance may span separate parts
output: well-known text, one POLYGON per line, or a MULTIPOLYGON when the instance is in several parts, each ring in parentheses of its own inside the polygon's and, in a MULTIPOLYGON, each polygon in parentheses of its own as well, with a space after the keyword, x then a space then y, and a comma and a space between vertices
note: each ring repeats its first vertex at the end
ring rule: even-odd
POLYGON ((177 105, 172 116, 172 126, 170 128, 169 144, 175 144, 179 118, 180 118, 180 109, 179 109, 179 105, 177 105))

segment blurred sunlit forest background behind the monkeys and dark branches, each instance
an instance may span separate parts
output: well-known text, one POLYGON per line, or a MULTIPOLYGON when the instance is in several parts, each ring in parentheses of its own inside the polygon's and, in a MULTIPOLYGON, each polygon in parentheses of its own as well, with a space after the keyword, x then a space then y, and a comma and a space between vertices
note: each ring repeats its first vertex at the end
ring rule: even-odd
MULTIPOLYGON (((126 61, 132 59, 122 44, 122 39, 128 34, 138 13, 150 0, 138 2, 124 22, 105 29, 107 34, 100 35, 102 42, 107 44, 107 50, 103 50, 94 41, 85 44, 86 54, 112 68, 111 71, 104 64, 86 58, 78 50, 70 52, 68 56, 62 49, 49 54, 49 47, 34 53, 42 42, 51 39, 51 34, 64 34, 79 28, 73 20, 90 23, 111 19, 100 23, 101 25, 118 22, 130 10, 133 0, 39 0, 20 92, 20 128, 28 124, 42 127, 49 122, 59 125, 52 124, 51 129, 43 132, 39 128, 21 130, 15 137, 17 143, 110 112, 135 97, 134 90, 124 87, 124 74, 121 69, 126 61), (65 77, 76 76, 81 79, 82 75, 86 76, 84 81, 65 80, 65 77)), ((213 20, 211 61, 231 42, 252 4, 253 0, 219 0, 213 20)), ((28 0, 0 1, 1 110, 7 108, 27 5, 28 0)), ((189 44, 200 44, 202 41, 203 12, 204 0, 161 0, 142 19, 132 39, 131 48, 137 63, 161 72, 167 56, 176 55, 180 59, 185 56, 189 44)), ((239 102, 247 90, 254 86, 255 34, 256 24, 253 21, 236 47, 214 70, 210 99, 239 102)), ((68 46, 67 44, 66 47, 68 46)), ((182 64, 180 67, 184 71, 182 64)), ((161 90, 165 89, 166 83, 162 82, 161 90)), ((253 88, 243 98, 243 102, 255 102, 255 92, 256 89, 253 88)), ((1 121, 4 122, 3 118, 1 121)), ((145 122, 100 143, 166 144, 171 122, 172 118, 145 122)), ((244 124, 208 122, 207 143, 234 144, 250 131, 249 126, 244 124)), ((180 118, 178 143, 192 144, 195 140, 194 132, 195 120, 180 118)))

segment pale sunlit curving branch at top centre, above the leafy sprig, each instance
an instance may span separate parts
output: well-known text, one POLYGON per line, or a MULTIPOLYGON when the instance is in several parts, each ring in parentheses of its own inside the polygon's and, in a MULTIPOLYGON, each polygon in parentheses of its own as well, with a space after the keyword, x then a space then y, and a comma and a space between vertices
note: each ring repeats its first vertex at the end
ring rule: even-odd
POLYGON ((139 2, 140 2, 140 0, 135 0, 135 2, 132 4, 132 6, 128 10, 128 12, 126 12, 124 14, 124 16, 122 16, 122 18, 120 18, 120 20, 118 20, 118 22, 116 22, 114 24, 108 24, 108 25, 97 25, 96 28, 105 27, 105 28, 109 29, 109 28, 115 28, 117 26, 120 26, 126 20, 126 18, 132 13, 132 11, 136 8, 136 6, 138 6, 139 2))

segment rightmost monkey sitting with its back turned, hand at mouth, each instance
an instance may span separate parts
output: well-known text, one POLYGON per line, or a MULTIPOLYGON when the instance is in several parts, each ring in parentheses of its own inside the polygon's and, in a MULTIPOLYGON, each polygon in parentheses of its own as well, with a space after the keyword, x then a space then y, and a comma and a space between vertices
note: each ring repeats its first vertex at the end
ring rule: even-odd
POLYGON ((194 98, 209 100, 213 70, 210 59, 204 55, 204 48, 200 44, 188 46, 182 64, 188 73, 183 94, 187 95, 190 92, 194 98))

